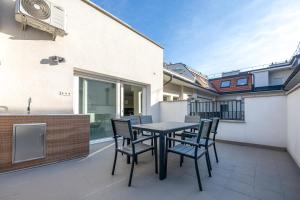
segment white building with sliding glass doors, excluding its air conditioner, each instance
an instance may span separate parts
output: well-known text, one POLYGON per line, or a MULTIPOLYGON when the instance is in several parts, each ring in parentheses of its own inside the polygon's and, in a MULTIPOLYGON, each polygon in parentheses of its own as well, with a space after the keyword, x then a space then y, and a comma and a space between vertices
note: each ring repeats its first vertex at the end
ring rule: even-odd
POLYGON ((163 48, 87 0, 50 0, 67 11, 67 33, 22 30, 15 1, 0 2, 0 113, 89 114, 97 137, 110 119, 151 114, 163 100, 163 48), (83 14, 84 13, 84 14, 83 14))

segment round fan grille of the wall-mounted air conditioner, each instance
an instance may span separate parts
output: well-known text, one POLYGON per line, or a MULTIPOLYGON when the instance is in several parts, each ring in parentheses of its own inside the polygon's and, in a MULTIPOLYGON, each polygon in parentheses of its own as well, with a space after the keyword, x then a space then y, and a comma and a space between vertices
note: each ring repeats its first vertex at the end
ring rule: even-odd
POLYGON ((46 20, 51 15, 49 5, 43 0, 22 0, 24 10, 31 16, 40 20, 46 20))

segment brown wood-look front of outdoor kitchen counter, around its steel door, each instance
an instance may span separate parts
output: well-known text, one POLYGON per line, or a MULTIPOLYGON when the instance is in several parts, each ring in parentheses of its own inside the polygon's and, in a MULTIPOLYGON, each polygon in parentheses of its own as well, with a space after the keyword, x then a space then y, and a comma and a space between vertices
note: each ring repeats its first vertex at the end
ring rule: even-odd
POLYGON ((0 115, 0 172, 44 165, 89 154, 88 115, 0 115), (13 163, 13 125, 46 123, 45 157, 13 163))

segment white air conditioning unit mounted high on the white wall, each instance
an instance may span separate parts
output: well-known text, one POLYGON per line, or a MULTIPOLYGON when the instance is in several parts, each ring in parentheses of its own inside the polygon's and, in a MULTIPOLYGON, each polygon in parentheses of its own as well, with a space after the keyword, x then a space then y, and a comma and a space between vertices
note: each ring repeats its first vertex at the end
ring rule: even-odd
POLYGON ((23 30, 29 25, 51 33, 54 40, 67 35, 65 9, 47 0, 17 0, 15 18, 23 30))

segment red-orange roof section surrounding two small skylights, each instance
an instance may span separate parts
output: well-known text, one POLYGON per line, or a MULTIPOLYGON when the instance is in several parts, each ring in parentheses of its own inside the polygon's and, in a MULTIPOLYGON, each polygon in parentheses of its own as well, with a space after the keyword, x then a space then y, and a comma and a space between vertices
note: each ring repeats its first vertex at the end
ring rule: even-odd
POLYGON ((223 93, 223 92, 238 92, 238 91, 250 91, 252 90, 252 75, 243 75, 243 76, 234 76, 234 77, 224 77, 219 79, 213 79, 210 80, 210 83, 213 85, 213 87, 217 90, 217 92, 223 93), (248 78, 248 85, 244 86, 237 86, 237 80, 240 78, 248 78), (231 81, 231 86, 228 88, 221 88, 221 82, 222 81, 231 81))

